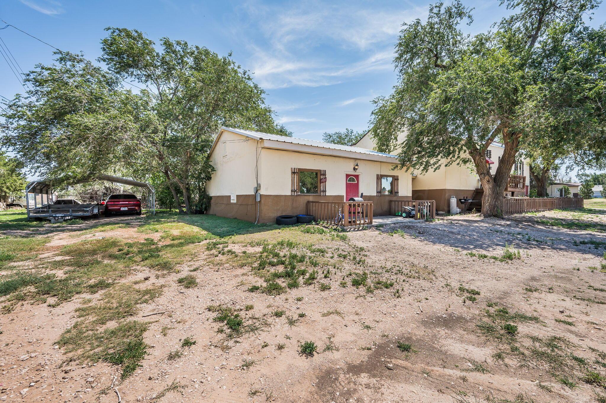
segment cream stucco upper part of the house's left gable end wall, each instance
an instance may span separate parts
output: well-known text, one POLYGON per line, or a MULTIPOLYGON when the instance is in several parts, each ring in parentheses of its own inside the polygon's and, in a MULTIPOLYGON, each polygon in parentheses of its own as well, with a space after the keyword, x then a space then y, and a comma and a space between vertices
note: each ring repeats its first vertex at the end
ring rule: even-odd
MULTIPOLYGON (((224 131, 210 163, 216 171, 206 189, 211 196, 233 194, 253 194, 255 187, 255 156, 257 140, 241 134, 224 131)), ((261 151, 259 149, 259 151, 261 151)), ((259 177, 261 165, 259 164, 259 177)), ((237 201, 237 200, 236 200, 237 201)))

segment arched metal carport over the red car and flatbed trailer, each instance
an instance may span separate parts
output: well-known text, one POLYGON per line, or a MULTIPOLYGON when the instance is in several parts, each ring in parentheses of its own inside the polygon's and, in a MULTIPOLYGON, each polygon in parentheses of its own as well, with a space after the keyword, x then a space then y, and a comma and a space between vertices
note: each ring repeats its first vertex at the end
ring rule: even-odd
MULTIPOLYGON (((93 182, 95 180, 105 180, 107 182, 119 183, 121 185, 128 186, 136 186, 138 188, 145 189, 145 212, 150 213, 152 215, 156 214, 156 190, 149 183, 139 182, 138 180, 121 178, 112 175, 96 175, 95 177, 91 177, 85 180, 79 180, 72 183, 62 183, 62 185, 78 185, 79 183, 88 183, 93 182)), ((55 197, 56 200, 56 197, 55 197)), ((27 218, 30 219, 32 217, 32 210, 42 208, 44 206, 48 206, 53 201, 53 186, 52 182, 46 179, 34 180, 25 186, 25 203, 27 205, 27 218), (30 197, 29 195, 34 195, 34 204, 30 206, 30 197), (40 206, 38 206, 38 195, 40 196, 40 206), (44 202, 44 196, 46 196, 46 203, 44 202)), ((33 215, 36 217, 36 215, 33 215)), ((42 217, 42 216, 40 216, 42 217)))

